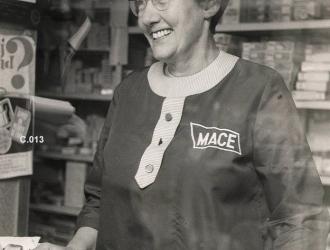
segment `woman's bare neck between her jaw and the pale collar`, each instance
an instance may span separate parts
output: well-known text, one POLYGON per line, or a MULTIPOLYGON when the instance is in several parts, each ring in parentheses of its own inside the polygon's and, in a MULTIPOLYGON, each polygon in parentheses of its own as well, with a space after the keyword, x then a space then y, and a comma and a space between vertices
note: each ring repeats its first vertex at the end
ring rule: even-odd
POLYGON ((189 76, 206 68, 218 56, 219 49, 216 47, 211 34, 202 41, 204 46, 190 48, 194 53, 181 56, 180 60, 167 63, 167 70, 174 76, 189 76))

